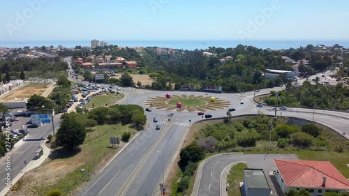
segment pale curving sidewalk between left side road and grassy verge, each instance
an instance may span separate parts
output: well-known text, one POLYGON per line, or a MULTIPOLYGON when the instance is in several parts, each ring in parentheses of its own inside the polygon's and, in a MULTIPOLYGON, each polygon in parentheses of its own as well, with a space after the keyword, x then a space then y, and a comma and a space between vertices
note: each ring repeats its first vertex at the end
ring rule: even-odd
MULTIPOLYGON (((22 176, 24 176, 25 172, 29 172, 31 169, 35 169, 36 167, 39 167, 41 164, 43 164, 43 162, 46 160, 46 158, 50 155, 50 149, 48 149, 47 146, 45 146, 45 142, 43 144, 40 144, 40 146, 43 148, 43 156, 41 156, 37 160, 31 160, 28 163, 27 168, 22 169, 20 174, 18 174, 17 176, 15 176, 14 179, 12 179, 11 186, 13 186, 20 178, 22 178, 22 176)), ((0 192, 0 196, 5 196, 6 193, 8 193, 8 191, 9 191, 8 189, 4 188, 0 192)))

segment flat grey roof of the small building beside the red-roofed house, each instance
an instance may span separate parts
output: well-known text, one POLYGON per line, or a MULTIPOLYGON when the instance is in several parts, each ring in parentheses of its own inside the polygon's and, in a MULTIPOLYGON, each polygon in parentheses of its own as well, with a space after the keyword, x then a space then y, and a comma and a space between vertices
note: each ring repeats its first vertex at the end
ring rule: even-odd
POLYGON ((248 188, 270 188, 263 169, 244 169, 248 188))

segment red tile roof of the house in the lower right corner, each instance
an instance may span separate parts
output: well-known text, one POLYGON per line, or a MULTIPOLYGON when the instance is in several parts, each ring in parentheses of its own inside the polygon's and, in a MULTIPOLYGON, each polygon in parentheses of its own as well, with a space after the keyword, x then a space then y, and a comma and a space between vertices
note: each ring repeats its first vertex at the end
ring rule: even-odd
POLYGON ((325 188, 349 190, 349 181, 329 161, 274 159, 281 177, 288 187, 325 188))

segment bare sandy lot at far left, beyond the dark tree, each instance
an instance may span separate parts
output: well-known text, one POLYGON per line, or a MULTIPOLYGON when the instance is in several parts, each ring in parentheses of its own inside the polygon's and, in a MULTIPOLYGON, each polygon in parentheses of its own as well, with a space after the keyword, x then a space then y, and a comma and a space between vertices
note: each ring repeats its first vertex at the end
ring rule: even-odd
POLYGON ((47 86, 22 86, 20 89, 8 93, 8 95, 1 100, 20 101, 30 98, 30 96, 33 96, 34 94, 47 97, 54 89, 54 84, 56 83, 47 84, 47 86))

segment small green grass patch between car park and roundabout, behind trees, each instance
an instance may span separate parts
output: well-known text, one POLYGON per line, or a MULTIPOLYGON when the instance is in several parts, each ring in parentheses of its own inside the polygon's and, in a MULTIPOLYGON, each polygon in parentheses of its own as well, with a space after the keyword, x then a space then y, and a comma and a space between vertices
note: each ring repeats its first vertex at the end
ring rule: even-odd
POLYGON ((89 109, 89 108, 93 108, 93 105, 94 107, 102 107, 102 106, 104 107, 104 106, 114 105, 114 103, 117 103, 117 101, 124 98, 124 96, 125 95, 123 93, 120 93, 120 94, 108 93, 100 96, 94 96, 93 98, 91 98, 91 101, 85 105, 85 107, 89 109))

